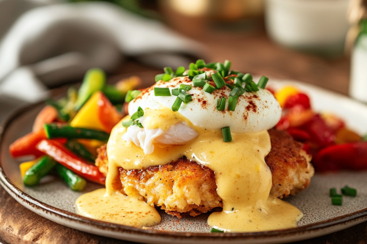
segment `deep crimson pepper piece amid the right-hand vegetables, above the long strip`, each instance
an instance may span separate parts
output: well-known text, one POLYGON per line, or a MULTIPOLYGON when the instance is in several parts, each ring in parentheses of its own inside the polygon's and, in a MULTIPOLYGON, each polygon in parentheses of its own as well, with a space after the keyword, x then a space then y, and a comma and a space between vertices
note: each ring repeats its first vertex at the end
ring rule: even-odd
POLYGON ((334 144, 334 131, 327 126, 319 114, 314 115, 302 129, 310 134, 320 148, 334 144))

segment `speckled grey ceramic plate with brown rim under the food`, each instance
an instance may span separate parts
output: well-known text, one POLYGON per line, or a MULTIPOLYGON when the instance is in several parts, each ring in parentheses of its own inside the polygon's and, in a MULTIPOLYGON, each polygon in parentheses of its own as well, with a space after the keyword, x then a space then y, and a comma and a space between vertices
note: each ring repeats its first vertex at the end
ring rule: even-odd
MULTIPOLYGON (((328 111, 345 119, 348 127, 365 134, 367 106, 342 95, 299 82, 270 83, 278 88, 286 84, 299 87, 309 94, 316 111, 328 111)), ((85 232, 142 243, 280 243, 309 239, 336 232, 367 220, 367 172, 316 174, 310 186, 286 201, 297 206, 304 218, 297 228, 257 233, 210 233, 207 214, 181 220, 161 213, 162 222, 152 228, 133 228, 81 217, 76 214, 75 199, 84 192, 101 186, 88 183, 84 192, 73 192, 55 178, 46 177, 36 187, 24 187, 19 173, 23 159, 11 158, 8 147, 15 139, 31 131, 37 112, 44 104, 18 111, 3 126, 0 138, 0 184, 19 203, 35 213, 59 224, 85 232), (333 206, 328 196, 331 187, 348 184, 357 188, 355 198, 344 197, 342 206, 333 206)))

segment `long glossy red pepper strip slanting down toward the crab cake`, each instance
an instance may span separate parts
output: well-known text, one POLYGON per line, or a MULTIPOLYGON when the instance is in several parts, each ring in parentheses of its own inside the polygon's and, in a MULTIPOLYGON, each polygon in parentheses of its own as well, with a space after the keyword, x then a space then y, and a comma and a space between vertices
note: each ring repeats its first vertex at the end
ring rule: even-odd
POLYGON ((99 171, 97 166, 88 164, 84 159, 66 149, 61 143, 54 140, 41 140, 37 144, 37 149, 51 156, 61 165, 72 170, 84 179, 102 185, 105 184, 106 177, 99 171))

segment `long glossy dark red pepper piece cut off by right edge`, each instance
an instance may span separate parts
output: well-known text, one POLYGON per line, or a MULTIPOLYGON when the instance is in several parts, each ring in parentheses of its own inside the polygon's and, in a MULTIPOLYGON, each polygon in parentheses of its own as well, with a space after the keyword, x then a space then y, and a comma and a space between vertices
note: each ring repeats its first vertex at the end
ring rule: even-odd
POLYGON ((321 149, 313 158, 319 172, 332 170, 366 170, 367 142, 335 144, 321 149))

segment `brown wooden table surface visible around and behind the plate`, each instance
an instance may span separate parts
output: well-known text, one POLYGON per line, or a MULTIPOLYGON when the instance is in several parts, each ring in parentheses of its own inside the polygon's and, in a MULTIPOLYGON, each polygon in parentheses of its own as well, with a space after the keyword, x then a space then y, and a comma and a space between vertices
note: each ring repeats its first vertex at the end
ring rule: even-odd
MULTIPOLYGON (((204 58, 207 62, 228 59, 232 61, 233 69, 242 72, 266 75, 270 78, 298 80, 339 93, 348 93, 348 57, 331 59, 295 52, 274 44, 261 28, 231 33, 219 30, 216 34, 201 35, 196 39, 206 45, 204 58)), ((150 72, 152 80, 154 74, 161 72, 139 64, 134 59, 127 59, 115 74, 110 75, 110 79, 116 80, 121 75, 142 71, 145 74, 150 72)), ((51 222, 25 209, 2 188, 0 188, 0 242, 3 244, 130 243, 80 232, 51 222)), ((367 222, 337 233, 297 243, 366 244, 367 222)))

